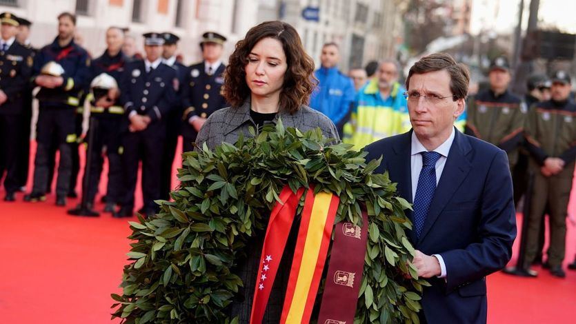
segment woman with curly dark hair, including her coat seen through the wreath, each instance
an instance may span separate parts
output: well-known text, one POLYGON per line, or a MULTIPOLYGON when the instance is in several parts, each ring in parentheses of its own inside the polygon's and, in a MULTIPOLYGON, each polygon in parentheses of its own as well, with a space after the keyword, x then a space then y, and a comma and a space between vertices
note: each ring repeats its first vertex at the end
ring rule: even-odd
MULTIPOLYGON (((203 143, 210 149, 222 142, 235 143, 240 134, 251 136, 250 126, 259 129, 278 119, 303 132, 320 128, 324 136, 339 141, 332 121, 305 105, 315 87, 313 72, 314 62, 288 23, 268 21, 251 28, 236 44, 224 74, 224 97, 231 107, 210 115, 197 136, 197 150, 203 143)), ((298 227, 295 220, 262 323, 280 322, 298 227)), ((239 323, 250 321, 263 243, 264 232, 248 242, 248 256, 239 260, 244 288, 230 305, 230 316, 238 316, 239 323)))

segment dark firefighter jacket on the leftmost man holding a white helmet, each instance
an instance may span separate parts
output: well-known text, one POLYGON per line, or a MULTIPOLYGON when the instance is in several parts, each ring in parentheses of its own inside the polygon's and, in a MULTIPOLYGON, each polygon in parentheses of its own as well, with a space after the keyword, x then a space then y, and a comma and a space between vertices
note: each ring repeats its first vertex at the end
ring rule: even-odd
POLYGON ((64 69, 61 75, 64 80, 58 88, 41 88, 36 95, 43 107, 62 107, 63 104, 77 107, 81 105, 80 97, 90 81, 90 56, 88 52, 70 41, 66 47, 60 47, 58 37, 51 44, 44 46, 34 57, 33 77, 38 77, 42 67, 54 61, 64 69))

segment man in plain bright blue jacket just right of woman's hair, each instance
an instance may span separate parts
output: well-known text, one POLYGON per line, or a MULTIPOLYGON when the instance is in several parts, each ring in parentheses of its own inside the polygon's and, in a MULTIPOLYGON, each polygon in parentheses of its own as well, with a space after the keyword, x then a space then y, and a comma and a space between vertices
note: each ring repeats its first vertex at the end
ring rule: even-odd
POLYGON ((310 107, 325 114, 336 125, 340 136, 344 123, 350 116, 355 89, 352 80, 337 68, 340 59, 336 43, 322 46, 321 68, 314 73, 318 79, 316 90, 310 97, 310 107))

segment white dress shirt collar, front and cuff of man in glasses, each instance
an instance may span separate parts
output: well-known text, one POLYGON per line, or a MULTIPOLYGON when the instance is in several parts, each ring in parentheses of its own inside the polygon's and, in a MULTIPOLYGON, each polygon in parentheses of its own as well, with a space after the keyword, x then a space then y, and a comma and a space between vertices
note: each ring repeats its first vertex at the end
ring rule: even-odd
MULTIPOLYGON (((448 152, 450 152, 450 147, 452 147, 452 143, 454 142, 454 137, 456 136, 454 128, 452 128, 452 133, 444 141, 441 143, 437 148, 433 150, 433 152, 437 152, 440 154, 440 158, 436 161, 436 185, 438 185, 440 181, 440 176, 442 175, 442 171, 444 171, 444 165, 446 165, 446 159, 448 158, 448 152)), ((416 196, 416 189, 418 188, 418 179, 420 177, 420 171, 422 170, 422 154, 421 152, 428 152, 424 145, 420 143, 418 137, 416 136, 415 132, 412 132, 412 150, 410 152, 410 170, 412 172, 412 201, 414 201, 416 196)), ((446 278, 446 264, 444 263, 444 259, 440 254, 433 254, 433 256, 438 259, 438 263, 440 263, 441 274, 439 278, 446 278)))

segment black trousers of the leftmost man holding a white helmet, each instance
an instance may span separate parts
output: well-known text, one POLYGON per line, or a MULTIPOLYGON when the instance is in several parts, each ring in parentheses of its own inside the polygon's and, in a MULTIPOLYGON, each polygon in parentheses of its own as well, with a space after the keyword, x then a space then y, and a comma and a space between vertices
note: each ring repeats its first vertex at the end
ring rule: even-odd
POLYGON ((75 114, 73 108, 63 105, 61 108, 40 105, 37 123, 37 149, 34 159, 34 186, 32 192, 44 193, 48 186, 48 168, 50 145, 55 136, 60 152, 56 193, 66 195, 70 186, 72 172, 72 152, 70 143, 75 141, 75 114))

